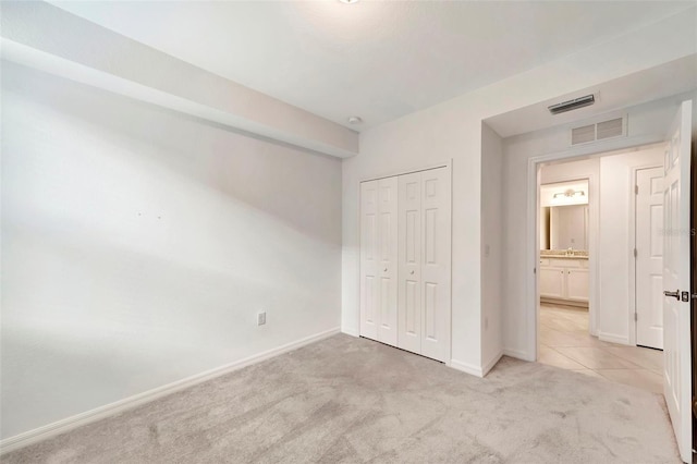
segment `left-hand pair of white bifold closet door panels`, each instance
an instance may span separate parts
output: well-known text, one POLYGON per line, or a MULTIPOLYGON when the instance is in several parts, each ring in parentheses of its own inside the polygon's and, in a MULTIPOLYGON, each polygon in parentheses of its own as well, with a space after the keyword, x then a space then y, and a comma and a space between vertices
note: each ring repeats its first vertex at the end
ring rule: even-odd
POLYGON ((398 180, 360 184, 360 334, 396 346, 398 180))

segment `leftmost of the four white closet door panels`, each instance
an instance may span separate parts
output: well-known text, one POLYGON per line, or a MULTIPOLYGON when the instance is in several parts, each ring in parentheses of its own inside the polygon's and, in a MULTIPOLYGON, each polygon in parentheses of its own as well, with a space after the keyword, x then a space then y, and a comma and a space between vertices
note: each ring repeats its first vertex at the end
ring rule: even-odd
POLYGON ((378 339, 378 181, 360 184, 360 335, 378 339))

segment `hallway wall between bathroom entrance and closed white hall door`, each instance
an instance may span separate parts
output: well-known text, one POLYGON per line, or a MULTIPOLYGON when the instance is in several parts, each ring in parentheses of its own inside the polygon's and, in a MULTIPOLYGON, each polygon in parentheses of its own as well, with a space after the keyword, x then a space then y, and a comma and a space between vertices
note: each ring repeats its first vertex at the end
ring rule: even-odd
POLYGON ((634 344, 629 264, 633 257, 634 208, 632 170, 663 166, 663 145, 600 158, 600 312, 601 340, 634 344))

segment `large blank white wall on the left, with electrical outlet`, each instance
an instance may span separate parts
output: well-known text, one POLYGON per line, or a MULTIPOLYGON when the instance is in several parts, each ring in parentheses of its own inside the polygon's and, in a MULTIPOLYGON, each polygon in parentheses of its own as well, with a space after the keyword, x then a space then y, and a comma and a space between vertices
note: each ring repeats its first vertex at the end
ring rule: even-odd
POLYGON ((1 148, 2 437, 339 327, 338 159, 7 62, 1 148))

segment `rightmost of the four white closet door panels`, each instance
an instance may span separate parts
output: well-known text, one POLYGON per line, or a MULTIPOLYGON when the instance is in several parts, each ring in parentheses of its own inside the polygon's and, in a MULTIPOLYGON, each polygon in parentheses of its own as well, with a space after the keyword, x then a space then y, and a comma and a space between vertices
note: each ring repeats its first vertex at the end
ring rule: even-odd
POLYGON ((450 353, 450 171, 421 172, 421 354, 447 362, 450 353))

